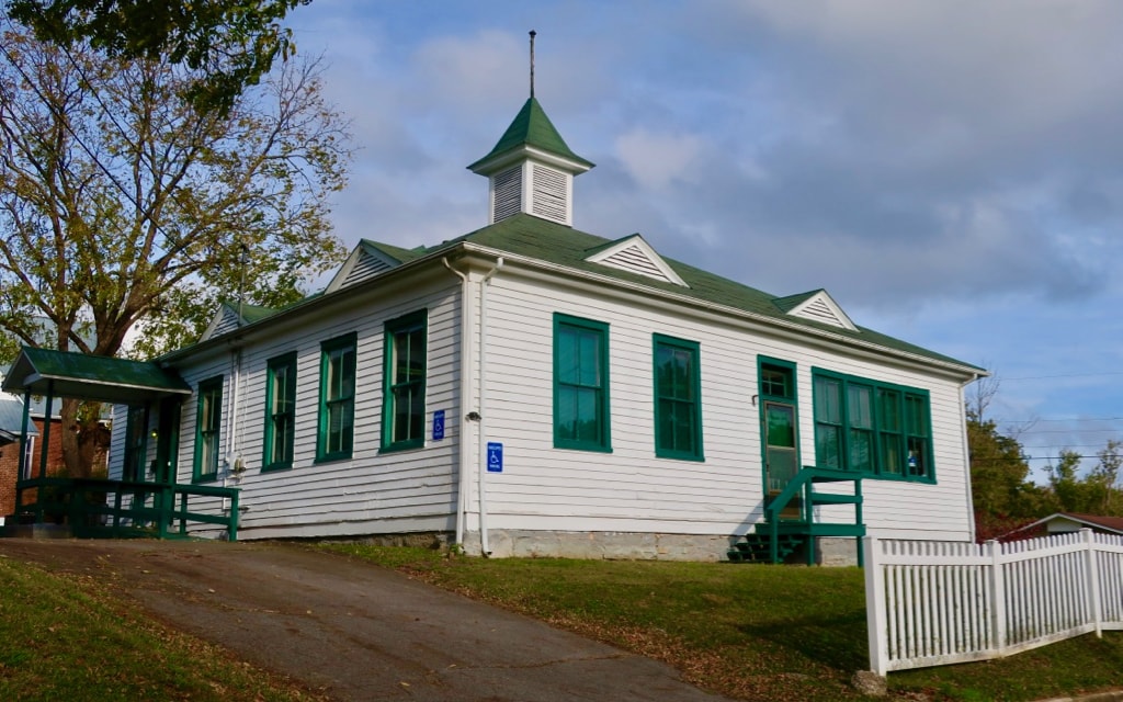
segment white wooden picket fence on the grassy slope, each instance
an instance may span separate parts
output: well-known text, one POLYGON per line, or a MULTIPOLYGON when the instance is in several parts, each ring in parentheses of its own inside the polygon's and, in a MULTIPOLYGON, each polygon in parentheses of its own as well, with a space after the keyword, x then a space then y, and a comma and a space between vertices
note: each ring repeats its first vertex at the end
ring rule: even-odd
POLYGON ((998 658, 1123 629, 1123 537, 1089 529, 1012 544, 866 537, 869 667, 998 658))

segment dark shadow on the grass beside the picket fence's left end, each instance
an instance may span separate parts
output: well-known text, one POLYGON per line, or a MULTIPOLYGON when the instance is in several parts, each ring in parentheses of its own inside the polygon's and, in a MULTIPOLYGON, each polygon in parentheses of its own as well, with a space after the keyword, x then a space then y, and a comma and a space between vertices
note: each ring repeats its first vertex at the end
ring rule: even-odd
POLYGON ((865 609, 831 618, 809 614, 775 619, 738 629, 839 671, 849 673, 869 667, 865 609))

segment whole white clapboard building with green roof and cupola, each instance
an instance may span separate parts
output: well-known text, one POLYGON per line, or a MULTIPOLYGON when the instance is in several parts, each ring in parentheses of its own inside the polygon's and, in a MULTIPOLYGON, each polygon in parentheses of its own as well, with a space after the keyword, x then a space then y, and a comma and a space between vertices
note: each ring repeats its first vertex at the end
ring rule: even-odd
POLYGON ((190 396, 117 408, 111 477, 238 487, 240 539, 779 560, 852 559, 866 532, 973 538, 980 368, 824 290, 776 297, 574 229, 592 166, 531 98, 469 166, 487 226, 364 239, 322 293, 220 310, 156 362, 190 396))

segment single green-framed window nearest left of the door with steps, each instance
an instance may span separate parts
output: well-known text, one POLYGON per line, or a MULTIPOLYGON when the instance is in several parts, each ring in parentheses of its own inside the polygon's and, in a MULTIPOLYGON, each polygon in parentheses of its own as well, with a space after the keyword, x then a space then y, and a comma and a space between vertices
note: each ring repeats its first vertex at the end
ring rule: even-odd
POLYGON ((702 452, 702 370, 697 341, 651 335, 655 455, 705 461, 702 452))

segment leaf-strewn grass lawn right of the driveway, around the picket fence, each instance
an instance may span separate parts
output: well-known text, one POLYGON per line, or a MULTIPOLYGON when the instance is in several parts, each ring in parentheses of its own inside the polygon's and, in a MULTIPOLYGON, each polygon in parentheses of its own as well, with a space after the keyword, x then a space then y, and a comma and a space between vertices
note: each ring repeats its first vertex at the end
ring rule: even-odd
MULTIPOLYGON (((868 664, 857 568, 448 557, 325 545, 419 580, 665 660, 743 700, 860 700, 868 664)), ((1123 633, 1084 636, 1003 660, 889 674, 897 699, 1039 700, 1123 684, 1123 633)))

